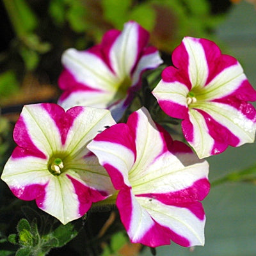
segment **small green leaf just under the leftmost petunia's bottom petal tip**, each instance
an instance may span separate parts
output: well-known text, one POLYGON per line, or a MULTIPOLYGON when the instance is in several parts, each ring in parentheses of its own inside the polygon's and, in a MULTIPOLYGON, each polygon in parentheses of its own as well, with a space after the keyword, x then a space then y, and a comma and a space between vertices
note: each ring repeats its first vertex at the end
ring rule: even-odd
POLYGON ((67 225, 60 225, 52 232, 52 236, 58 239, 58 247, 67 244, 70 240, 76 237, 78 234, 77 230, 74 229, 74 225, 68 223, 67 225))

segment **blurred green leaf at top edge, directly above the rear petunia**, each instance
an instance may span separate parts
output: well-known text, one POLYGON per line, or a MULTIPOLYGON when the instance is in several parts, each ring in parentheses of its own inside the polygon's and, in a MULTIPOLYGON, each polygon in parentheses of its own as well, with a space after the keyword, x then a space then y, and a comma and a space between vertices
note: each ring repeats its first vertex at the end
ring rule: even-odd
POLYGON ((104 18, 111 22, 115 28, 122 29, 124 22, 127 21, 131 4, 131 0, 102 0, 101 5, 104 11, 104 18))

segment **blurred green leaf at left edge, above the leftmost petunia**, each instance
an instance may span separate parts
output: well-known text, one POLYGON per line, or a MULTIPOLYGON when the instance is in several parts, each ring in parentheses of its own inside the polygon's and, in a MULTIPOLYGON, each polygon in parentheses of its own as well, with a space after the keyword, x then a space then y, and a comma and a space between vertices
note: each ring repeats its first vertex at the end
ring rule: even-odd
POLYGON ((19 83, 12 70, 0 74, 0 99, 10 96, 18 90, 19 83))

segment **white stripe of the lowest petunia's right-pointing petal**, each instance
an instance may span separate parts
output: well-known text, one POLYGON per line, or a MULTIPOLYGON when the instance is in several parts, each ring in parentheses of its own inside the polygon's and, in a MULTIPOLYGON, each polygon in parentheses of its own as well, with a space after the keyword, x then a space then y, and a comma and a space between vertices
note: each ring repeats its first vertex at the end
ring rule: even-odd
MULTIPOLYGON (((183 154, 182 158, 195 158, 194 156, 194 154, 183 154)), ((180 154, 179 157, 181 157, 180 154)), ((132 191, 135 195, 140 195, 144 193, 168 193, 186 189, 198 179, 207 179, 208 169, 207 161, 184 166, 176 156, 166 152, 148 166, 143 175, 130 179, 132 191)))

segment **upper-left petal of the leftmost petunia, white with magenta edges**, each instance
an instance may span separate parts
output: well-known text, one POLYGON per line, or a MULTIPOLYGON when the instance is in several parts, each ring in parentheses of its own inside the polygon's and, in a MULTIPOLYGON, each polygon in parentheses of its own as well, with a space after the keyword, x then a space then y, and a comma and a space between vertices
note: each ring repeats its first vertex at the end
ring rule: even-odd
POLYGON ((64 109, 56 104, 24 106, 13 131, 15 142, 19 147, 31 152, 36 149, 47 156, 51 155, 52 151, 62 147, 65 140, 65 134, 62 134, 58 127, 58 121, 64 114, 64 109))

